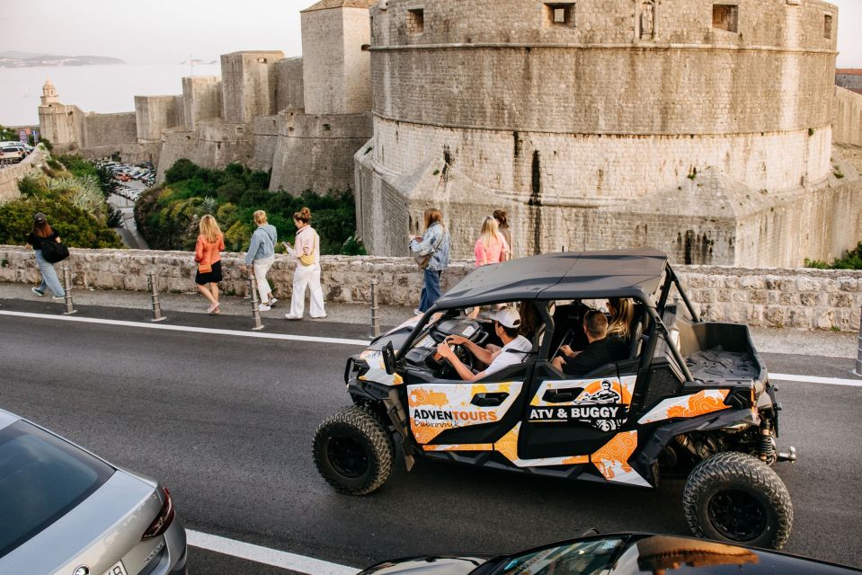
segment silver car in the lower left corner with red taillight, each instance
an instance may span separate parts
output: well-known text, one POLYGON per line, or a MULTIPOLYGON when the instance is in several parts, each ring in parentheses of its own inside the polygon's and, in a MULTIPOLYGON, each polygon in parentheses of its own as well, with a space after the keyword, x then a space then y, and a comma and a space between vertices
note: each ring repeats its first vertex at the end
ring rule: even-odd
POLYGON ((178 575, 171 494, 0 410, 0 573, 178 575))

